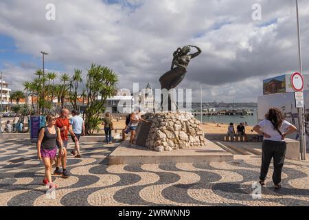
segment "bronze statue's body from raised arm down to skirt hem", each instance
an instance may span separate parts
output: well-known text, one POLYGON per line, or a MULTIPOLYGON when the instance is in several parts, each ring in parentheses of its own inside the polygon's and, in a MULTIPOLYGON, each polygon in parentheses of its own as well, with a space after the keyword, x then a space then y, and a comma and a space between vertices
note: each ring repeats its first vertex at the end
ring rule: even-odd
POLYGON ((166 72, 160 78, 161 89, 174 89, 176 88, 187 73, 187 65, 189 65, 192 58, 200 55, 202 50, 199 47, 188 45, 183 47, 183 49, 178 48, 173 56, 172 67, 169 72, 166 72), (195 47, 198 52, 194 54, 189 54, 191 47, 195 47), (176 66, 176 67, 174 67, 176 66))

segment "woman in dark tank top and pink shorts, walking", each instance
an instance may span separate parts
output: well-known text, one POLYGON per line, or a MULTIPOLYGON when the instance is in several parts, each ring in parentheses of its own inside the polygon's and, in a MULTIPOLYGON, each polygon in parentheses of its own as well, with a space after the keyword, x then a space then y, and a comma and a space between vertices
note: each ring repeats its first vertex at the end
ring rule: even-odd
POLYGON ((46 117, 47 126, 41 129, 38 135, 37 150, 38 159, 43 159, 45 165, 45 179, 43 184, 50 184, 49 187, 57 187, 52 181, 52 164, 57 154, 56 142, 59 143, 59 154, 63 154, 60 130, 55 126, 55 115, 49 114, 46 117))

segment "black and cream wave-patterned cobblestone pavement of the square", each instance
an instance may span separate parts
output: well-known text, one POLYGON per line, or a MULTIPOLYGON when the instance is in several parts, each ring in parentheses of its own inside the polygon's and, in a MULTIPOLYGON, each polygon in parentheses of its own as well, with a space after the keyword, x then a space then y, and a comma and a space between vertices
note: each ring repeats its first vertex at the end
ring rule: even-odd
POLYGON ((56 198, 48 199, 34 144, 0 140, 0 206, 309 206, 308 161, 286 162, 279 191, 273 190, 271 169, 262 199, 255 200, 260 158, 107 166, 116 146, 82 144, 82 159, 69 155, 71 177, 53 177, 59 187, 56 198))

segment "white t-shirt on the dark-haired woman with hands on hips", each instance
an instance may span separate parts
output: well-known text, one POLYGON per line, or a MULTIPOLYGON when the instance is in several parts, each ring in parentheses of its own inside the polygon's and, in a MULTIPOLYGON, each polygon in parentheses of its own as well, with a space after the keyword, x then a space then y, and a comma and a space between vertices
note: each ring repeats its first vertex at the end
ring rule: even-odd
MULTIPOLYGON (((273 140, 275 142, 282 142, 282 137, 279 134, 279 132, 273 127, 273 124, 271 124, 271 122, 269 120, 263 120, 262 122, 260 122, 258 125, 261 126, 261 131, 263 131, 264 133, 270 135, 270 138, 264 137, 264 140, 273 140)), ((288 131, 288 127, 291 126, 292 124, 290 124, 289 122, 285 121, 282 123, 282 126, 279 128, 279 130, 282 133, 285 133, 286 131, 288 131)))

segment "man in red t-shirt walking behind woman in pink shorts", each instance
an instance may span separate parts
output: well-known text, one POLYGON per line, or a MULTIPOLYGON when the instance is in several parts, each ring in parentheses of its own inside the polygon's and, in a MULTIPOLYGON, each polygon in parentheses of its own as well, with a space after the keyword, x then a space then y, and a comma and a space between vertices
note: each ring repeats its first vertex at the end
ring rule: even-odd
POLYGON ((63 178, 68 178, 69 172, 67 171, 67 142, 69 140, 68 133, 71 134, 71 137, 74 138, 74 140, 77 141, 76 135, 73 133, 72 127, 69 123, 69 118, 67 118, 69 115, 68 109, 62 109, 60 111, 60 117, 56 120, 56 126, 60 129, 60 135, 62 140, 62 146, 63 146, 63 155, 57 157, 56 161, 56 170, 54 172, 54 175, 62 175, 63 178), (60 163, 62 164, 62 172, 59 169, 60 163))

